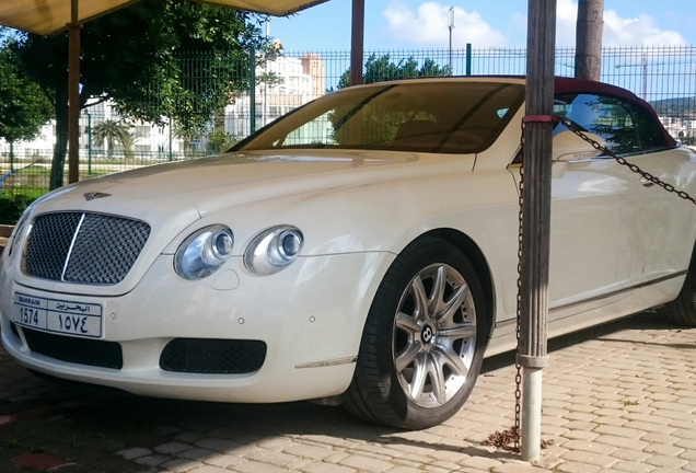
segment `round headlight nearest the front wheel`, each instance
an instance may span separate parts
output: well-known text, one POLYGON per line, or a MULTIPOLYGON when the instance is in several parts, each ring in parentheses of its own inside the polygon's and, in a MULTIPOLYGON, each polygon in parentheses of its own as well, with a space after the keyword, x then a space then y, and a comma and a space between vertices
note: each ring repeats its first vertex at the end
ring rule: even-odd
POLYGON ((300 255, 304 236, 295 227, 280 226, 257 234, 244 252, 244 265, 258 276, 287 267, 300 255))

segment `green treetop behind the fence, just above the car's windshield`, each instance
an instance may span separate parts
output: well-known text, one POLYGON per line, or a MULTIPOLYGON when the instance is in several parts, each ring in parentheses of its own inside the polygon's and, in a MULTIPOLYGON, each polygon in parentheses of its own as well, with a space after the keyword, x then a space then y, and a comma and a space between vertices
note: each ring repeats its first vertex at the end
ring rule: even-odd
MULTIPOLYGON (((402 59, 398 64, 394 64, 394 61, 390 59, 388 54, 381 58, 371 55, 366 62, 366 72, 362 77, 362 83, 437 76, 452 76, 452 71, 449 66, 440 67, 432 59, 426 59, 424 65, 419 68, 418 61, 413 57, 402 59)), ((349 85, 350 68, 343 73, 336 88, 344 89, 349 85)))

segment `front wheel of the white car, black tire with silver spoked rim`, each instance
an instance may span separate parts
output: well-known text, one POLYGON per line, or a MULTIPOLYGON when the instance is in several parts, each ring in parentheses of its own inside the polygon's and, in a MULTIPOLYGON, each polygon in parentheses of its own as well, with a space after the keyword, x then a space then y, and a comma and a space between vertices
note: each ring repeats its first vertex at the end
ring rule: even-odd
POLYGON ((489 321, 466 256, 443 240, 415 241, 378 289, 344 406, 404 429, 443 423, 474 389, 489 321))

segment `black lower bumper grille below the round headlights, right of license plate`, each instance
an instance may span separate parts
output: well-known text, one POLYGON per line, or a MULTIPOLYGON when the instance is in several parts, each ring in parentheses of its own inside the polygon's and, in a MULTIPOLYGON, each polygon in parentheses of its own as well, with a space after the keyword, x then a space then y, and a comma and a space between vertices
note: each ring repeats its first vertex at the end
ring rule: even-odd
POLYGON ((259 341, 175 338, 164 347, 160 368, 165 371, 242 374, 257 371, 266 359, 259 341))

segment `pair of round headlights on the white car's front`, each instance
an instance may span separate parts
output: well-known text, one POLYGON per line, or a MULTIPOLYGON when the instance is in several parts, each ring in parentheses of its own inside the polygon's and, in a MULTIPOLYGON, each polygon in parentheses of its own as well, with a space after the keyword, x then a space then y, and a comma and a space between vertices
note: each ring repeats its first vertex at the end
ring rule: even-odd
MULTIPOLYGON (((304 238, 292 226, 278 226, 256 235, 244 252, 244 266, 257 276, 278 273, 300 255, 304 238)), ((210 276, 232 255, 234 235, 224 226, 211 226, 188 236, 176 250, 174 268, 184 279, 210 276)))

